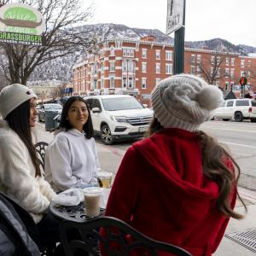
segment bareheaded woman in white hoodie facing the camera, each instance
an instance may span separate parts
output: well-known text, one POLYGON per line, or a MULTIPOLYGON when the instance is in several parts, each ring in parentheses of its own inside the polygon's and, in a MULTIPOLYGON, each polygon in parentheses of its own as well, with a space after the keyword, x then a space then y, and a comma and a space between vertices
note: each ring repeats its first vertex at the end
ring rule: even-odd
POLYGON ((45 179, 55 191, 97 185, 100 171, 90 110, 84 99, 72 96, 63 106, 61 132, 45 154, 45 179))

